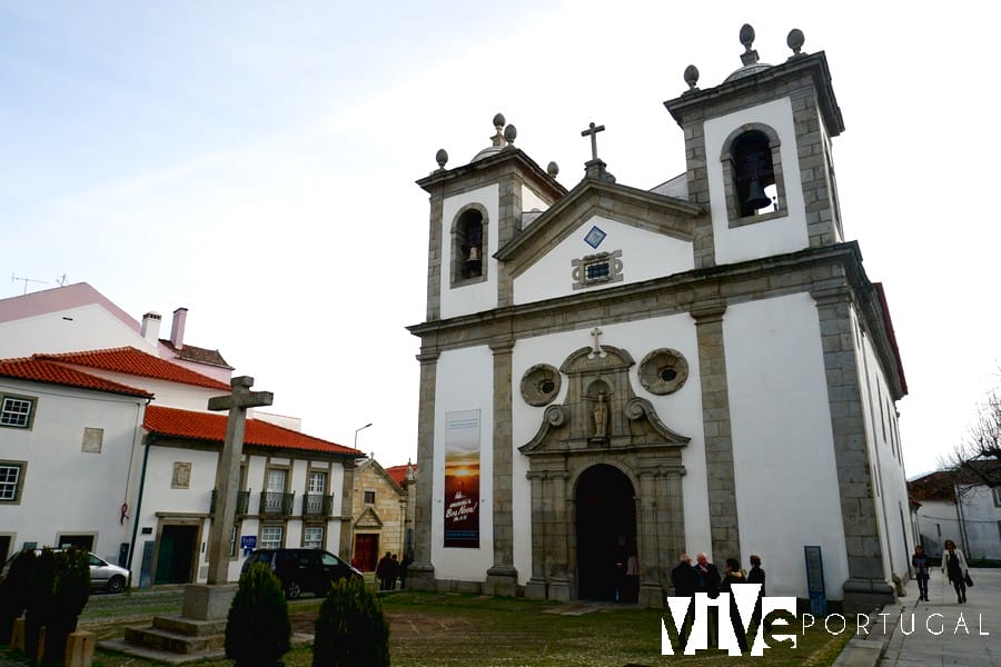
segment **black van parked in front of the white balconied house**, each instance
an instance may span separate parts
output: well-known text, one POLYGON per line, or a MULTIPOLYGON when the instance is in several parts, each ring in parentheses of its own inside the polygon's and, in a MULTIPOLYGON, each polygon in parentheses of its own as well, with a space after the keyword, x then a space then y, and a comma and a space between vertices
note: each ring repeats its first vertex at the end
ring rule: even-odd
POLYGON ((349 564, 320 549, 255 549, 240 571, 246 573, 255 563, 265 563, 271 568, 285 588, 285 597, 290 600, 304 590, 325 596, 331 581, 361 577, 361 573, 349 564))

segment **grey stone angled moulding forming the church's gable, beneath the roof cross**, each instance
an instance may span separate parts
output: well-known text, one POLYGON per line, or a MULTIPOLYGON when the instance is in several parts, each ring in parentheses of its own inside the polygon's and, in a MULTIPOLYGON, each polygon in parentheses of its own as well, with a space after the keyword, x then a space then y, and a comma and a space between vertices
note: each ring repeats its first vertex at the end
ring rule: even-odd
POLYGON ((584 179, 502 248, 496 259, 517 277, 551 248, 588 225, 595 216, 692 242, 705 208, 684 199, 584 179))

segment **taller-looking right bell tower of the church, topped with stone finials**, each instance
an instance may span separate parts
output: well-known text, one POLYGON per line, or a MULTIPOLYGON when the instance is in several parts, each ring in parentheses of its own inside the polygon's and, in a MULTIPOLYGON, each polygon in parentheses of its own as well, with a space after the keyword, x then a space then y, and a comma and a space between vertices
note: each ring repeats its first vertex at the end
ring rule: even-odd
POLYGON ((685 131, 688 198, 710 206, 696 267, 757 259, 844 240, 831 139, 844 129, 823 52, 803 52, 792 30, 785 62, 761 62, 754 29, 741 28, 741 67, 714 88, 664 106, 685 131))

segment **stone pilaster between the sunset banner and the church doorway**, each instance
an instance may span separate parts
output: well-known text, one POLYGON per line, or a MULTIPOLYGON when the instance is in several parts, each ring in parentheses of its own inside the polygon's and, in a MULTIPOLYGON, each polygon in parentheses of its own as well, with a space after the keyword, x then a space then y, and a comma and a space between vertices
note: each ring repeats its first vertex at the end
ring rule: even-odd
POLYGON ((494 351, 494 434, 492 438, 494 479, 494 565, 487 569, 486 595, 515 596, 518 570, 514 566, 514 522, 512 499, 512 370, 513 340, 490 345, 494 351))

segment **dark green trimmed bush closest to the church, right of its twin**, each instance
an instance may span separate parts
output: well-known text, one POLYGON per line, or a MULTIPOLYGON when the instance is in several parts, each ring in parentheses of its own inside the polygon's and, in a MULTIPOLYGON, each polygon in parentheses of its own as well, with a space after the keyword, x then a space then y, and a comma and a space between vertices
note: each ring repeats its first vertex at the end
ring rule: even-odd
POLYGON ((360 578, 335 581, 320 605, 313 641, 314 667, 386 667, 389 626, 383 605, 360 578))

